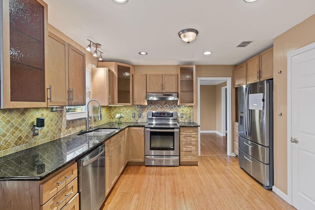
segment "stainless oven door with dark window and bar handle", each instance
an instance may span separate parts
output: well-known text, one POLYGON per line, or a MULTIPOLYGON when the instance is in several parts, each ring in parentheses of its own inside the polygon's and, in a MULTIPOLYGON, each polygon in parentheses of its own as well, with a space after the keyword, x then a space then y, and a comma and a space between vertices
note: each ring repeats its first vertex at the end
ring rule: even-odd
POLYGON ((179 128, 146 128, 145 155, 179 155, 179 128))

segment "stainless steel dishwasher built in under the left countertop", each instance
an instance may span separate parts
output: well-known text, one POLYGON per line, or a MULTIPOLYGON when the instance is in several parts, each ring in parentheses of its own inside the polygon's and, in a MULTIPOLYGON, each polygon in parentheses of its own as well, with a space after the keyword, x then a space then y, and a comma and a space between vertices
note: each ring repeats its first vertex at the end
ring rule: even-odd
POLYGON ((105 201, 105 146, 78 159, 80 210, 99 210, 105 201))

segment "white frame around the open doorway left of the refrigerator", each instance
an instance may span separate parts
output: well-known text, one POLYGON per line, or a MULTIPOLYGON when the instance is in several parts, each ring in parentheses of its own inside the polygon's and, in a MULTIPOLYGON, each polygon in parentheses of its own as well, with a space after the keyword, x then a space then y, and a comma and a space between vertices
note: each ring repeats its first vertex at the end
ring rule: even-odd
MULTIPOLYGON (((226 115, 227 115, 227 139, 226 139, 226 154, 228 156, 236 156, 232 152, 232 138, 231 138, 231 126, 232 126, 232 78, 231 77, 198 77, 197 78, 197 93, 198 93, 198 107, 197 107, 197 123, 200 125, 200 81, 226 81, 226 115)), ((198 127, 198 155, 200 156, 200 126, 198 127)))

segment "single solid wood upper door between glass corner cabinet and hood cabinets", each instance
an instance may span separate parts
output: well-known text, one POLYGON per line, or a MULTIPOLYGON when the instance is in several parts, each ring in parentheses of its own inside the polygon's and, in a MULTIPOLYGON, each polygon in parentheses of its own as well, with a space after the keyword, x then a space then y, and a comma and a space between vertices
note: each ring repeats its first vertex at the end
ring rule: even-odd
POLYGON ((146 74, 134 74, 132 77, 133 77, 132 104, 148 105, 146 74))

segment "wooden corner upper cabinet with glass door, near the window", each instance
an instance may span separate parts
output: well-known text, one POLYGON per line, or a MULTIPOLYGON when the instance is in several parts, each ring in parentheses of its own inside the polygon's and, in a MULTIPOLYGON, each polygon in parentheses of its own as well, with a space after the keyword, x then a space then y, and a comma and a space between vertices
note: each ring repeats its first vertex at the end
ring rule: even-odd
POLYGON ((115 105, 132 105, 132 65, 119 62, 98 62, 98 67, 106 67, 115 73, 115 105))

